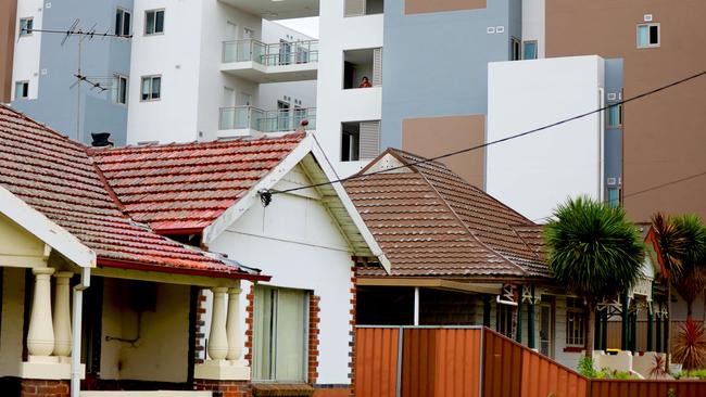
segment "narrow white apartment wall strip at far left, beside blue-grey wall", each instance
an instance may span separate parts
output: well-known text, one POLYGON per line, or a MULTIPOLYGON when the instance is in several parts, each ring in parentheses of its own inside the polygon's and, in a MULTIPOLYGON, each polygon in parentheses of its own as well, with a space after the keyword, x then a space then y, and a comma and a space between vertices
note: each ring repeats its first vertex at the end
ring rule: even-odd
POLYGON ((41 34, 35 31, 29 36, 20 37, 20 18, 34 17, 33 28, 41 29, 43 7, 41 0, 17 1, 14 62, 12 65, 12 101, 15 100, 15 81, 29 81, 28 99, 37 99, 39 95, 41 34))

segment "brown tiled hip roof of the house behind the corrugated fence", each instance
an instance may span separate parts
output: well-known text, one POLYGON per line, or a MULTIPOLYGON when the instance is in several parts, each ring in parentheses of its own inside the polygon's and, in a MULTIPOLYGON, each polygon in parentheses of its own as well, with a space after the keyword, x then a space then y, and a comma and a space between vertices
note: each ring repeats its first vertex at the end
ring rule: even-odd
MULTIPOLYGON (((388 150, 402 164, 423 157, 388 150)), ((365 172, 365 169, 362 171, 365 172)), ((391 276, 547 277, 541 227, 438 162, 344 183, 391 276)), ((361 276, 381 276, 364 268, 361 276)))

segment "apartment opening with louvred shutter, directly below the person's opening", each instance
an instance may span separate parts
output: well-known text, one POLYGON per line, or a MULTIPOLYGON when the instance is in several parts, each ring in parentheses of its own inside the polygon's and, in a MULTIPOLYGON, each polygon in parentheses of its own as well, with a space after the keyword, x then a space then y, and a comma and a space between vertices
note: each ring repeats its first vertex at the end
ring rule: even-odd
POLYGON ((341 124, 341 162, 373 159, 380 154, 380 121, 341 124))

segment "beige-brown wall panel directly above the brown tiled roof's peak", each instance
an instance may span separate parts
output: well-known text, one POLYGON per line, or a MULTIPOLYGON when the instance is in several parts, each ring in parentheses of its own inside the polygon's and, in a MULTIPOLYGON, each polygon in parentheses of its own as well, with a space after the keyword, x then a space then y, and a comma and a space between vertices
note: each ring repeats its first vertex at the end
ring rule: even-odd
MULTIPOLYGON (((436 157, 482 144, 486 116, 405 118, 402 120, 402 150, 436 157)), ((476 150, 440 161, 469 183, 483 188, 486 152, 476 150)))

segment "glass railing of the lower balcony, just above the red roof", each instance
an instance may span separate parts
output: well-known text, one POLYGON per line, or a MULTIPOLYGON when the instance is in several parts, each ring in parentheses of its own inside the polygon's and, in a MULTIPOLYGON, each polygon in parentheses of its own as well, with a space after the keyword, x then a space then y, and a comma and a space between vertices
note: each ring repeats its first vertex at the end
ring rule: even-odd
POLYGON ((253 106, 220 107, 218 129, 253 129, 260 132, 288 132, 307 120, 316 129, 316 107, 263 111, 253 106))

